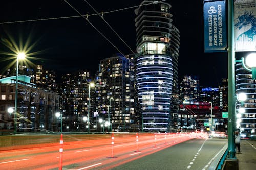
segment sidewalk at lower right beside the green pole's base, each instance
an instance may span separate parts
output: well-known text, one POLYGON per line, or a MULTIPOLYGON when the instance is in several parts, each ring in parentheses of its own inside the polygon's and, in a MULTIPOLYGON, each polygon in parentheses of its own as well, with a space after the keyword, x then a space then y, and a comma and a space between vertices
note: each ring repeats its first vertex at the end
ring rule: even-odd
POLYGON ((240 143, 241 153, 236 153, 239 170, 256 169, 256 140, 242 139, 240 143))

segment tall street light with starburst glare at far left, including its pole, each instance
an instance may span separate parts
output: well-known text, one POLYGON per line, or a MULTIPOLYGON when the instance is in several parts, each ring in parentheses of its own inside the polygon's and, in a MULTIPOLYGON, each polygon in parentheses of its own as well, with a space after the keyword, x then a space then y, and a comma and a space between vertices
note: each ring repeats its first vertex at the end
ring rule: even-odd
POLYGON ((25 59, 25 53, 20 52, 17 54, 17 62, 16 62, 16 90, 15 90, 15 104, 14 104, 14 135, 17 132, 17 105, 18 105, 18 61, 25 59))

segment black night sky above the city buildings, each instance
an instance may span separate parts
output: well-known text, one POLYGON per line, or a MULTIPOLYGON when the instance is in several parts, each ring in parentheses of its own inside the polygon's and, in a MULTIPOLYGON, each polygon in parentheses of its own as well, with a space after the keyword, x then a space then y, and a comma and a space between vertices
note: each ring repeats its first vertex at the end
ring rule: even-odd
MULTIPOLYGON (((8 0, 0 6, 0 37, 23 42, 29 40, 34 46, 30 52, 35 64, 53 69, 57 74, 76 70, 98 70, 100 60, 111 57, 118 50, 106 40, 83 17, 38 20, 20 23, 5 23, 45 18, 79 16, 69 4, 82 15, 89 14, 89 21, 123 54, 132 53, 96 12, 110 12, 140 5, 140 0, 8 0), (8 36, 9 35, 9 36, 8 36), (30 38, 28 38, 30 37, 30 38)), ((199 77, 200 85, 218 87, 222 78, 227 77, 227 53, 204 53, 203 1, 172 1, 173 25, 180 30, 179 77, 189 74, 199 77)), ((135 8, 103 14, 114 31, 136 50, 135 8)), ((0 44, 0 51, 7 49, 0 44)), ((244 53, 237 53, 238 55, 244 53)), ((6 55, 0 54, 0 66, 6 55)), ((1 70, 1 69, 0 69, 1 70)), ((2 69, 3 71, 3 69, 2 69)), ((1 72, 2 73, 2 72, 1 72)))

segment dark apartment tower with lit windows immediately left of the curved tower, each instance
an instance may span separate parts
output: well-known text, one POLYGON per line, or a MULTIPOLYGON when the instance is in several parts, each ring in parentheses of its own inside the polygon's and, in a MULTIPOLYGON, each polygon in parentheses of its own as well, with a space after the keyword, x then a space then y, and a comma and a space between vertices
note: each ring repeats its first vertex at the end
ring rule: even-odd
POLYGON ((96 102, 99 118, 110 122, 105 131, 137 131, 134 110, 134 63, 117 54, 100 61, 96 102))

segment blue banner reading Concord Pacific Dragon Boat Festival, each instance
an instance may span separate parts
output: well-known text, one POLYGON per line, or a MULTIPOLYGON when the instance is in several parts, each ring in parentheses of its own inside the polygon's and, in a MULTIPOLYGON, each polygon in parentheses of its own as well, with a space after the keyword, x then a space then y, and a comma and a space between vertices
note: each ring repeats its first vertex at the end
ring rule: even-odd
POLYGON ((204 52, 226 52, 225 1, 204 0, 204 52))

